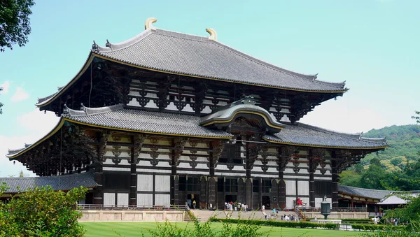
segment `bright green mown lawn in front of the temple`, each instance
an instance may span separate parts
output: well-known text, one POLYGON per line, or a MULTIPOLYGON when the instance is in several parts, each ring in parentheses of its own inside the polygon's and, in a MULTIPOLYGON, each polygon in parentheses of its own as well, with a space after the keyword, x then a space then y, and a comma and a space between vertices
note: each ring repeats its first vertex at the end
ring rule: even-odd
MULTIPOLYGON (((155 222, 80 222, 86 229, 85 237, 103 236, 103 237, 137 237, 144 233, 144 236, 150 236, 147 229, 155 229, 155 222), (118 235, 118 234, 120 235, 118 235)), ((187 223, 177 223, 179 227, 185 227, 187 223)), ((193 226, 192 223, 188 224, 193 226)), ((221 223, 211 224, 215 229, 221 229, 221 223)), ((262 231, 268 231, 272 227, 262 227, 262 231)), ((274 227, 271 236, 313 236, 313 237, 341 237, 357 236, 359 233, 354 231, 335 231, 323 229, 296 229, 274 227)))

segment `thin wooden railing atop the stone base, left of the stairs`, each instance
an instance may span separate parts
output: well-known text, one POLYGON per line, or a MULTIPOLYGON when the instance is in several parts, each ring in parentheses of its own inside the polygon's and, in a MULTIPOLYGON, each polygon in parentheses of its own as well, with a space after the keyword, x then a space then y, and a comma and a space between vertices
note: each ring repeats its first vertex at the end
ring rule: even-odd
POLYGON ((99 205, 78 204, 80 210, 186 210, 186 206, 137 206, 137 205, 99 205))

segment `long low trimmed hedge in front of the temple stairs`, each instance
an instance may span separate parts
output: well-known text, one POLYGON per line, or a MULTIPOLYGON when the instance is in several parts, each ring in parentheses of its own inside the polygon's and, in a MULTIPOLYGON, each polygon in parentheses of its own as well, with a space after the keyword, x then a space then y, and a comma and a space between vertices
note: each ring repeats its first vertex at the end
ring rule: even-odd
POLYGON ((325 223, 318 224, 314 222, 279 222, 273 220, 242 220, 242 219, 224 219, 224 218, 210 218, 211 222, 228 222, 228 223, 244 223, 244 224, 255 224, 269 227, 298 227, 298 228, 325 228, 325 229, 338 229, 339 224, 325 223))

